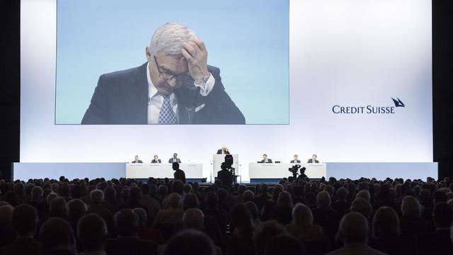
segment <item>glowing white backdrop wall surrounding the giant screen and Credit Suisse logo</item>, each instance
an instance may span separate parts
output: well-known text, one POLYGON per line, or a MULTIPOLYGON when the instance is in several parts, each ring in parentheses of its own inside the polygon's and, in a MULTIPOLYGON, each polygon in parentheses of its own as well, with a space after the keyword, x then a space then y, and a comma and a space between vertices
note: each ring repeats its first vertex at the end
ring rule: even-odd
MULTIPOLYGON (((290 1, 289 125, 55 125, 55 0, 21 1, 21 162, 432 162, 430 0, 290 1), (406 107, 335 114, 332 107, 406 107), (165 140, 163 139, 165 137, 165 140)), ((232 17, 234 18, 234 17, 232 17)), ((259 106, 257 106, 259 107, 259 106)))

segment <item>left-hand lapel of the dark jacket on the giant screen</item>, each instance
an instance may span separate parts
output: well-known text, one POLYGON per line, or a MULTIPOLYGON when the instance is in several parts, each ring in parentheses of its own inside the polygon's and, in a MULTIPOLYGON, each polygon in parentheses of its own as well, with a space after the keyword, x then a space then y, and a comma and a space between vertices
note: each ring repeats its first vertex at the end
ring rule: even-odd
POLYGON ((130 86, 125 91, 125 103, 130 124, 148 123, 148 80, 147 63, 137 67, 130 76, 130 86))

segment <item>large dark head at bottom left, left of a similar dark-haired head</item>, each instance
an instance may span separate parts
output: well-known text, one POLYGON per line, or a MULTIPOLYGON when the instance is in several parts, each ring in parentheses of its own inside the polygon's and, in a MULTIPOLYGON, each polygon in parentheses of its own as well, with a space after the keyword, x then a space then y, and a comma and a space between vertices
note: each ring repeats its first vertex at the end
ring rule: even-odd
POLYGON ((66 220, 51 217, 40 229, 40 242, 45 251, 75 252, 74 232, 66 220))

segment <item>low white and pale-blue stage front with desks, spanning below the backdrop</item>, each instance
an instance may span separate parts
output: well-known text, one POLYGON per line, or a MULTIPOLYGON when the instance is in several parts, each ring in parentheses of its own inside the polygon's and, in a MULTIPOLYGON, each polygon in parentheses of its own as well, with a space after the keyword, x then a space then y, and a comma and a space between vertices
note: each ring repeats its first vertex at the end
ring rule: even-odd
MULTIPOLYGON (((65 176, 67 179, 120 179, 134 178, 147 179, 148 177, 173 179, 171 164, 134 164, 125 162, 105 163, 13 163, 13 179, 59 179, 65 176)), ((236 169, 239 175, 239 183, 276 183, 284 177, 291 176, 288 166, 293 164, 241 164, 236 169), (248 166, 248 167, 246 167, 248 166)), ((437 162, 326 162, 321 164, 302 164, 306 166, 306 175, 312 179, 319 179, 325 176, 336 179, 360 179, 376 178, 384 180, 391 179, 422 179, 427 177, 437 179, 437 162)), ((186 178, 189 181, 201 181, 206 178, 207 182, 214 182, 217 171, 213 171, 212 164, 201 163, 181 164, 180 169, 185 170, 186 178), (202 169, 210 168, 209 175, 203 175, 202 169)))

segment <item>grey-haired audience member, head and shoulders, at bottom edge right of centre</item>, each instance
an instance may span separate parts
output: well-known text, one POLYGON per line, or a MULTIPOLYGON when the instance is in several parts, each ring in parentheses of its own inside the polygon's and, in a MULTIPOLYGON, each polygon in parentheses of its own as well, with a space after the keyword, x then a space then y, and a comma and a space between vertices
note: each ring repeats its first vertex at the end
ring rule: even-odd
POLYGON ((343 242, 343 247, 328 253, 329 255, 338 254, 376 254, 383 255, 368 246, 368 221, 358 212, 350 212, 345 215, 338 227, 336 240, 343 242))

